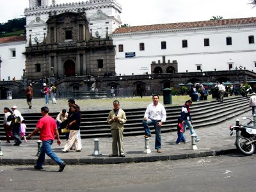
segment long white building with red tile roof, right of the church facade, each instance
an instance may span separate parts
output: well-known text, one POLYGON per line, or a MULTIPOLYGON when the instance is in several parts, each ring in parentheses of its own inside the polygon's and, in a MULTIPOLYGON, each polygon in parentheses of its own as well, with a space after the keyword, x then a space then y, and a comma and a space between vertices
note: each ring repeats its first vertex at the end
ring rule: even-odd
POLYGON ((255 35, 255 17, 118 28, 112 35, 116 73, 255 71, 255 35), (168 68, 173 61, 175 71, 168 68))

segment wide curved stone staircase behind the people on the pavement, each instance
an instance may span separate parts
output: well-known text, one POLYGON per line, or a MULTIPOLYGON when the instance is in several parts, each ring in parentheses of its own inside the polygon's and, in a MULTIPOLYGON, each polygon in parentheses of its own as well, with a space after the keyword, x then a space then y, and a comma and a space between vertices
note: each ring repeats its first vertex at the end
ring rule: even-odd
MULTIPOLYGON (((205 127, 207 125, 218 124, 237 115, 241 115, 251 108, 248 105, 249 99, 245 97, 230 97, 225 98, 223 102, 203 101, 193 102, 191 106, 191 116, 193 118, 193 127, 195 129, 205 127)), ((181 106, 166 107, 167 118, 161 132, 176 131, 177 118, 180 116, 181 106)), ((145 113, 145 108, 140 109, 124 109, 127 116, 125 124, 124 136, 143 135, 142 119, 145 113)), ((82 111, 81 122, 81 138, 98 138, 111 137, 110 126, 106 122, 109 110, 102 111, 82 111)), ((51 116, 56 118, 58 113, 51 113, 51 116)), ((32 132, 35 129, 36 122, 41 118, 41 114, 22 114, 26 119, 27 130, 32 132)), ((0 116, 0 125, 3 125, 3 115, 0 116)), ((0 129, 1 140, 5 139, 3 128, 0 129)), ((154 129, 151 129, 154 133, 154 129)), ((60 133, 61 138, 65 138, 64 134, 60 133)), ((36 138, 36 137, 35 137, 36 138)), ((38 138, 38 137, 37 137, 38 138)))

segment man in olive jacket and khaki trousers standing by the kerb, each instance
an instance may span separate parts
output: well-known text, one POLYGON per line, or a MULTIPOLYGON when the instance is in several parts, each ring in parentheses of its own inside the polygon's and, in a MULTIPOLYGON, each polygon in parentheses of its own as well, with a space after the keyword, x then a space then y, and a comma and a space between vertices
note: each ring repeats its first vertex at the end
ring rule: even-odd
POLYGON ((125 157, 124 154, 124 143, 123 143, 123 132, 124 124, 126 123, 126 116, 122 109, 120 109, 120 104, 118 100, 113 102, 114 108, 109 112, 108 124, 111 125, 112 134, 112 154, 109 157, 117 157, 118 149, 120 157, 125 157), (118 144, 118 147, 117 147, 118 144))

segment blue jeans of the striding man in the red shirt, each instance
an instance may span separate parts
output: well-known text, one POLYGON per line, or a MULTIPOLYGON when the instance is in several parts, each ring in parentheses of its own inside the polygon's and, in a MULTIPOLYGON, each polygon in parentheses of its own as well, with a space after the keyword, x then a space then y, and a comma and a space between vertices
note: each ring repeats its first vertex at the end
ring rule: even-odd
POLYGON ((58 163, 59 165, 63 163, 63 161, 58 156, 56 156, 54 152, 52 152, 52 147, 51 147, 52 143, 53 143, 53 140, 42 141, 42 146, 40 148, 40 156, 36 161, 36 166, 38 168, 42 168, 45 161, 45 154, 51 157, 51 159, 56 161, 56 163, 58 163))

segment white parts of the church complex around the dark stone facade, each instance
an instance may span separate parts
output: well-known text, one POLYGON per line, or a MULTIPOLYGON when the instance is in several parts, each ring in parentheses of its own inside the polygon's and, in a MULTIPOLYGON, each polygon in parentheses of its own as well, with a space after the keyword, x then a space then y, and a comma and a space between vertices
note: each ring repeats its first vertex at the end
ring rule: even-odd
POLYGON ((122 6, 117 0, 55 4, 29 0, 26 40, 3 42, 0 38, 0 79, 22 77, 25 47, 44 41, 49 14, 85 12, 93 37, 109 36, 116 46, 116 74, 256 70, 256 18, 205 20, 120 28, 122 6), (13 51, 15 54, 13 55, 13 51), (163 62, 164 58, 164 62, 163 62), (177 68, 169 68, 169 63, 177 68), (152 68, 152 63, 163 67, 152 68), (13 70, 15 66, 15 70, 13 70), (167 70, 166 70, 167 68, 167 70))

